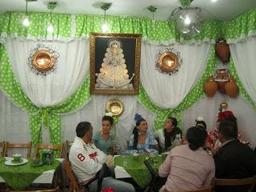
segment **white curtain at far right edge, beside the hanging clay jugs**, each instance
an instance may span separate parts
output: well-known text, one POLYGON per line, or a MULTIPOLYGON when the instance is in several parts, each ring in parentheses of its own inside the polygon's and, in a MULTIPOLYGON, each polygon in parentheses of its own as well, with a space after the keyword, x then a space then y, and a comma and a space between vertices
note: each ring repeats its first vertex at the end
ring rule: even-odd
POLYGON ((243 42, 230 44, 234 66, 250 98, 256 102, 256 37, 246 38, 243 42))

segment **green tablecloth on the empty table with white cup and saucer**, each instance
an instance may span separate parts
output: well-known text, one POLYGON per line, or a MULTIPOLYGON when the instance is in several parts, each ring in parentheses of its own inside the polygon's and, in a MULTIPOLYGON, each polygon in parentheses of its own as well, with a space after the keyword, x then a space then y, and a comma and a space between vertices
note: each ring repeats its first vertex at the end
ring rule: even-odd
POLYGON ((54 159, 52 165, 32 167, 31 159, 21 166, 6 166, 4 162, 5 158, 0 158, 0 176, 14 190, 25 190, 44 171, 55 170, 61 163, 54 159))

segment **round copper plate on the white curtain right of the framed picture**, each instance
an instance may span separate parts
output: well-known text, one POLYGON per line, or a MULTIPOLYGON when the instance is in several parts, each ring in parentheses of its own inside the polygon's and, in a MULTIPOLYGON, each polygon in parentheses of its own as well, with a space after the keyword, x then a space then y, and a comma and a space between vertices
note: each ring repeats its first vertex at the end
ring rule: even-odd
POLYGON ((160 70, 166 73, 176 70, 178 67, 177 55, 173 52, 166 51, 165 53, 161 54, 160 58, 158 59, 158 66, 160 70))

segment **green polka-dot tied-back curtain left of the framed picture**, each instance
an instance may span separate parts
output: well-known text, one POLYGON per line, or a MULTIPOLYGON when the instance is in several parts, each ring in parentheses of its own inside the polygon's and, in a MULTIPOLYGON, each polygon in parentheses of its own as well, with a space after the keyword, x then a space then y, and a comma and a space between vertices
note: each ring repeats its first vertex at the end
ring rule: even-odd
POLYGON ((32 102, 30 102, 29 98, 26 97, 17 81, 17 78, 14 77, 9 58, 6 54, 5 46, 2 46, 1 50, 1 90, 18 107, 28 111, 30 114, 30 131, 33 144, 35 145, 38 142, 42 142, 42 123, 44 126, 50 127, 50 142, 53 144, 61 144, 61 114, 67 114, 73 110, 78 110, 90 101, 89 78, 86 78, 82 85, 78 87, 78 90, 76 90, 74 94, 70 96, 70 98, 67 98, 65 102, 62 102, 57 106, 39 109, 37 106, 34 106, 32 102))

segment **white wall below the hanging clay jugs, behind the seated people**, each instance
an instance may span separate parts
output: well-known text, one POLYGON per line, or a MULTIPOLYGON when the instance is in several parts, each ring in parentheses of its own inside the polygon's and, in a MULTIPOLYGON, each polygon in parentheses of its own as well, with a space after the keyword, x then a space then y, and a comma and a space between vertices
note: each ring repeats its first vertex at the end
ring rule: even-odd
POLYGON ((256 110, 242 98, 241 94, 238 94, 237 98, 230 98, 226 94, 217 92, 213 98, 203 98, 183 114, 183 127, 187 130, 195 125, 195 118, 203 116, 207 130, 213 129, 221 102, 227 102, 228 110, 233 111, 238 118, 238 129, 242 132, 243 139, 250 141, 252 146, 256 146, 256 110))

